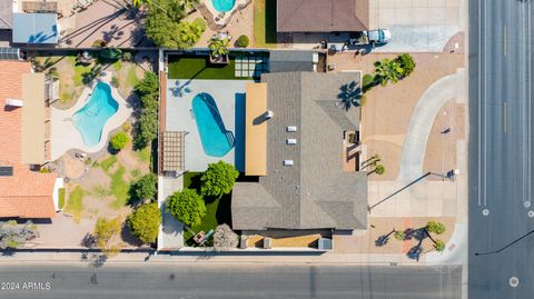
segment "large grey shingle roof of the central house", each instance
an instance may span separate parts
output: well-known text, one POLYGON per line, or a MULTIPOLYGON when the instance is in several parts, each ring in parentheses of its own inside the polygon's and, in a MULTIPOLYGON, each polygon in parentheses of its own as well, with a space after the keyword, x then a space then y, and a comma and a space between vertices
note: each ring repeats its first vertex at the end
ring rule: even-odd
POLYGON ((234 229, 367 227, 367 176, 343 169, 343 132, 358 130, 359 108, 339 107, 342 87, 359 81, 359 72, 261 74, 274 113, 267 120, 267 176, 234 187, 234 229), (287 144, 288 138, 297 144, 287 144))

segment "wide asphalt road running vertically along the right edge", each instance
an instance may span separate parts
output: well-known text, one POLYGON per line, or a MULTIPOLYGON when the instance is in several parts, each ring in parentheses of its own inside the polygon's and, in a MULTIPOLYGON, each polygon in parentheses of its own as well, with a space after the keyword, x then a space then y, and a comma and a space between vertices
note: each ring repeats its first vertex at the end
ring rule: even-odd
POLYGON ((534 297, 534 235, 474 255, 534 228, 532 14, 531 0, 469 0, 471 299, 534 297))

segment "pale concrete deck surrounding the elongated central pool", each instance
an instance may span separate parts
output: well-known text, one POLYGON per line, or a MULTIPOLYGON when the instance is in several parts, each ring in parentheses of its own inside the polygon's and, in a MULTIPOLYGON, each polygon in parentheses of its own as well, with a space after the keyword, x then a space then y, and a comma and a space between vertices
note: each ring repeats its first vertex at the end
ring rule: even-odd
POLYGON ((251 81, 200 79, 168 80, 166 130, 189 132, 186 136, 185 141, 185 169, 187 171, 205 171, 209 163, 219 160, 235 165, 238 170, 243 171, 245 162, 245 88, 248 82, 251 81), (191 107, 192 98, 200 92, 211 94, 217 103, 220 118, 222 119, 226 129, 234 132, 235 148, 224 157, 210 157, 204 151, 191 107), (236 151, 238 152, 237 155, 236 151))

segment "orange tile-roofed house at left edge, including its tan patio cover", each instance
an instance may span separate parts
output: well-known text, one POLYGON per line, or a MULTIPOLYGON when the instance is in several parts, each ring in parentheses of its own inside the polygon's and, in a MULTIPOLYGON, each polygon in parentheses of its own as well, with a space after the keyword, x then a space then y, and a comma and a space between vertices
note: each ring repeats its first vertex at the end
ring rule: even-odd
POLYGON ((33 170, 48 156, 44 76, 0 60, 0 218, 52 218, 62 179, 33 170))

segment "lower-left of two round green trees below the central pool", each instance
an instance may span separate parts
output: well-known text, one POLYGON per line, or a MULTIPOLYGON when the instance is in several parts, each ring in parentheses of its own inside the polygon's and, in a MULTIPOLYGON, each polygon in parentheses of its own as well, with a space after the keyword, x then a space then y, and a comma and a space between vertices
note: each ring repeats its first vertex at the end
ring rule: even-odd
POLYGON ((167 209, 186 226, 200 225, 206 215, 206 205, 197 191, 184 188, 167 198, 167 209))

